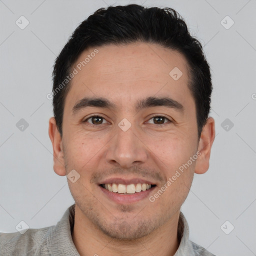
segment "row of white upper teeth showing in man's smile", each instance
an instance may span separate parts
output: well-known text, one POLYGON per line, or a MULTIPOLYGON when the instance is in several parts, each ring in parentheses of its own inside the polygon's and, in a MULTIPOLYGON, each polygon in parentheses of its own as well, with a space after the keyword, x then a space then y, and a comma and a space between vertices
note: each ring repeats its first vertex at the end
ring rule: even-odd
POLYGON ((103 187, 110 192, 114 193, 128 193, 128 194, 134 194, 135 192, 145 191, 151 187, 150 184, 146 183, 137 183, 137 184, 116 184, 116 183, 107 183, 103 184, 103 187))

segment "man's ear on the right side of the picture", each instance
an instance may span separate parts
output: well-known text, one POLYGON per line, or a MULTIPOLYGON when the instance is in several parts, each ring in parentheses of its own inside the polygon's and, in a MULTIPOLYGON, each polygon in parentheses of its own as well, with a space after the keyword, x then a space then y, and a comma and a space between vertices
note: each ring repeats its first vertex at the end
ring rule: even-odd
POLYGON ((194 172, 202 174, 209 168, 210 149, 215 137, 214 119, 212 117, 207 118, 205 125, 202 128, 198 143, 198 158, 195 163, 194 172))

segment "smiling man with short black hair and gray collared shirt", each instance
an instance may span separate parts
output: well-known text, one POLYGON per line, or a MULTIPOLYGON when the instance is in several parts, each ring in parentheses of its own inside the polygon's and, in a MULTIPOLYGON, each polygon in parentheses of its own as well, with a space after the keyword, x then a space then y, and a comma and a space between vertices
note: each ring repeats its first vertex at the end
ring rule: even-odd
POLYGON ((211 75, 171 8, 99 9, 56 58, 54 171, 75 204, 56 226, 0 236, 0 255, 213 255, 180 207, 214 139, 211 75))

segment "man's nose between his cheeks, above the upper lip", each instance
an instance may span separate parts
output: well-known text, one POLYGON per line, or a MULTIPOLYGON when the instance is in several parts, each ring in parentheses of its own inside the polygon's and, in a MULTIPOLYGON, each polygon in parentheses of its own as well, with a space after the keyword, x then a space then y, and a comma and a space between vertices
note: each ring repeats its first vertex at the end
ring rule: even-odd
POLYGON ((144 163, 148 157, 145 142, 131 125, 126 131, 116 125, 114 136, 109 141, 106 160, 122 168, 144 163))

